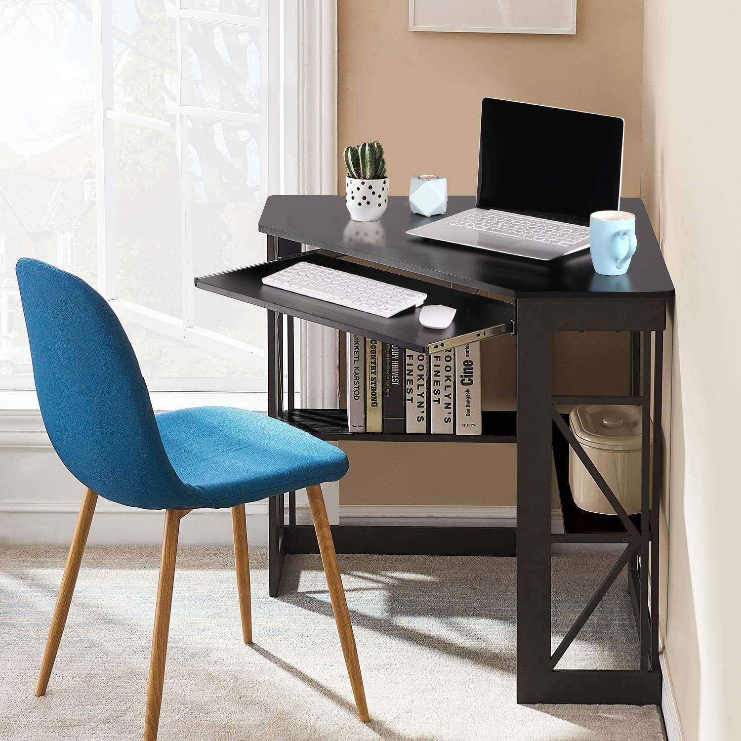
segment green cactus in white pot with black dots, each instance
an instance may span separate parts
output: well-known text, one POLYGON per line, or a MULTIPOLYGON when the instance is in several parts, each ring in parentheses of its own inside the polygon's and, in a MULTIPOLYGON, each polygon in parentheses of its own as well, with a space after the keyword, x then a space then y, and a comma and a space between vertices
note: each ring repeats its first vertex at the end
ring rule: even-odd
POLYGON ((377 222, 388 205, 388 177, 383 147, 379 142, 363 142, 345 148, 345 204, 350 219, 377 222))

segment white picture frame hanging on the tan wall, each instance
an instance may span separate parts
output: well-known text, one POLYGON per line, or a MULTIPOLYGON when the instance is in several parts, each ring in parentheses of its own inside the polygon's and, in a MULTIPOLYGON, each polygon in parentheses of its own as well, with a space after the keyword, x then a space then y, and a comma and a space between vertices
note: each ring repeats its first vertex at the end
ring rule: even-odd
POLYGON ((576 33, 576 0, 409 0, 409 30, 576 33))

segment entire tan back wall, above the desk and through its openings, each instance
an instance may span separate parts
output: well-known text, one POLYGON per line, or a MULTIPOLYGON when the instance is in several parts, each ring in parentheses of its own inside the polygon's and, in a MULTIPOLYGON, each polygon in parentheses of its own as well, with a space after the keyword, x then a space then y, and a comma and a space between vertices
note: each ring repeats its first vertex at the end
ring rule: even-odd
MULTIPOLYGON (((392 193, 407 193, 410 176, 429 171, 448 177, 450 193, 475 193, 481 99, 501 96, 623 116, 623 193, 638 194, 642 0, 580 1, 576 36, 411 33, 407 7, 405 0, 339 1, 339 144, 382 142, 392 193)), ((342 184, 342 163, 339 173, 342 184)), ((514 341, 485 345, 485 408, 512 409, 514 341)), ((626 348, 626 335, 556 339, 556 388, 626 391, 626 348)), ((342 447, 352 462, 343 504, 515 501, 511 445, 342 447), (465 466, 465 487, 440 474, 443 460, 465 466)))

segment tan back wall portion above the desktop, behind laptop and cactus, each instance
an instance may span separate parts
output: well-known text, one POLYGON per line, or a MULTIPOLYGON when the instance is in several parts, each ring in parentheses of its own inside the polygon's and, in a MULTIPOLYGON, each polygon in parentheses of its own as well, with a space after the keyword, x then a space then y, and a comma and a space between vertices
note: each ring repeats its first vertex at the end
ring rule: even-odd
POLYGON ((625 118, 623 193, 638 194, 642 0, 580 1, 575 36, 411 32, 405 0, 338 5, 339 144, 382 142, 392 193, 430 171, 475 193, 481 99, 498 96, 625 118))

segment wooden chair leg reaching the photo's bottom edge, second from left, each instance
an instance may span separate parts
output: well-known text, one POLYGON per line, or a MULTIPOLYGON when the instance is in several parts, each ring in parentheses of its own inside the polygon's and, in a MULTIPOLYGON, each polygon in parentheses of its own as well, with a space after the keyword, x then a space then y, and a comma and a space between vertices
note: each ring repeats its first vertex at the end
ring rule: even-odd
POLYGON ((162 708, 162 685, 165 682, 167 635, 170 631, 170 608, 173 604, 175 562, 178 554, 180 520, 190 510, 167 510, 165 533, 162 536, 162 559, 159 562, 157 608, 154 614, 152 655, 149 662, 147 684, 147 711, 144 716, 144 741, 156 741, 159 728, 159 711, 162 708))

